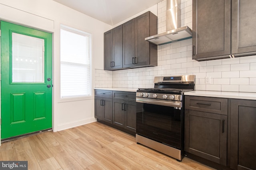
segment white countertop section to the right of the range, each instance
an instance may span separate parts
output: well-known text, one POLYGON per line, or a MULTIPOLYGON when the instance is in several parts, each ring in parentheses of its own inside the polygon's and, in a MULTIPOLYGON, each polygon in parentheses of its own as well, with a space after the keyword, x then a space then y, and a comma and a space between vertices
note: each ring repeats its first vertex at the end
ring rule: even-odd
POLYGON ((185 92, 184 95, 256 100, 256 93, 247 93, 247 92, 220 92, 220 91, 194 90, 191 92, 185 92))

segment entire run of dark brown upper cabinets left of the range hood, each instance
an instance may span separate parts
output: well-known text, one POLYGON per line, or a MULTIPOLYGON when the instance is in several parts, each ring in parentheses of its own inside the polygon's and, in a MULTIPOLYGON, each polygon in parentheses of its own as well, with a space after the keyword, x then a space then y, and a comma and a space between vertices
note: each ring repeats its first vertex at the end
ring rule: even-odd
POLYGON ((148 11, 104 33, 104 70, 157 66, 157 16, 148 11))

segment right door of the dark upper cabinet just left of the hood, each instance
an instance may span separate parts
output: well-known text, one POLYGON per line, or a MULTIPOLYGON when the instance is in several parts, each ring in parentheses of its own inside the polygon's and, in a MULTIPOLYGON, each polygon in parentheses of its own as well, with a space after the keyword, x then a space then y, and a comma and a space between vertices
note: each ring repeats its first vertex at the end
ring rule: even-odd
POLYGON ((142 66, 150 63, 149 42, 149 12, 135 18, 135 65, 142 66))

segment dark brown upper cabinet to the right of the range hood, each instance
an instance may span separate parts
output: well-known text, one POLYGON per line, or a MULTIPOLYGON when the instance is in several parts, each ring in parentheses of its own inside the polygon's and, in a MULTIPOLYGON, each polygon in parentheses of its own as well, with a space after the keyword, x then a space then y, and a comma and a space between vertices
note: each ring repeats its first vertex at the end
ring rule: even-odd
POLYGON ((192 59, 256 54, 256 1, 193 0, 192 59))

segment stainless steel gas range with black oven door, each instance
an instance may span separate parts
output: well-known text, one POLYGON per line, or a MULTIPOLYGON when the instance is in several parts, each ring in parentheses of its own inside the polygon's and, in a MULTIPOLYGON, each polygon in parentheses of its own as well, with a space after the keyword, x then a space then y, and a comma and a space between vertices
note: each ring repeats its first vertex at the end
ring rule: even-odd
POLYGON ((136 142, 182 160, 184 92, 194 90, 195 76, 156 76, 154 88, 136 92, 136 142))

